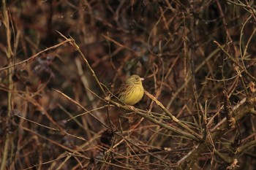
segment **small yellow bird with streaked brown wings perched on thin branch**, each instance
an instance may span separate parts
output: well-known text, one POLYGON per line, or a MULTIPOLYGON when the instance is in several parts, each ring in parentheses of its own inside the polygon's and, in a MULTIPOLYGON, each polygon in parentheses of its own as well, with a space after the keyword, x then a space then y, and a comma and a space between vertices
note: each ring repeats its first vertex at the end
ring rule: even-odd
POLYGON ((123 85, 121 85, 115 95, 125 104, 131 106, 137 104, 144 95, 142 80, 144 79, 138 75, 132 75, 123 85))

